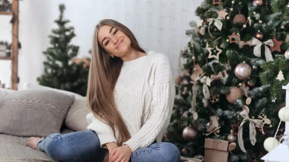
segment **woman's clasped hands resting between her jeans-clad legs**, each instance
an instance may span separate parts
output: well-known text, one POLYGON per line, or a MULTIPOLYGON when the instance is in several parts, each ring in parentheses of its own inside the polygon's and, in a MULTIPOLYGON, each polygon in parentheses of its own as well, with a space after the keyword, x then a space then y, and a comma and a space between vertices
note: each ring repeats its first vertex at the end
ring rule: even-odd
POLYGON ((108 162, 129 162, 131 156, 131 149, 128 145, 123 145, 112 149, 112 152, 109 153, 108 162))

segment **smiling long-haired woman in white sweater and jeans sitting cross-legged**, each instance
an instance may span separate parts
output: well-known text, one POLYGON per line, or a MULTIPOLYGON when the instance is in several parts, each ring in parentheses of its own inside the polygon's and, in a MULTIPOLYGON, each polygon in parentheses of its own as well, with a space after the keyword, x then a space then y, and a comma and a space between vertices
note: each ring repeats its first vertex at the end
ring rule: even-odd
POLYGON ((116 20, 101 20, 93 38, 88 130, 31 137, 28 146, 63 162, 179 162, 179 149, 161 142, 175 96, 169 58, 146 53, 116 20))

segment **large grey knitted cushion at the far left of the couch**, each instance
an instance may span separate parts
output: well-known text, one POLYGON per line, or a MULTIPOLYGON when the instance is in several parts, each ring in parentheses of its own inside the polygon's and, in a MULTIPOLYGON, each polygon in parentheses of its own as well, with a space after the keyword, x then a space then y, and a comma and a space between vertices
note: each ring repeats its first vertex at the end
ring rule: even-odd
POLYGON ((0 103, 0 133, 47 137, 59 133, 73 95, 52 90, 11 92, 0 103))

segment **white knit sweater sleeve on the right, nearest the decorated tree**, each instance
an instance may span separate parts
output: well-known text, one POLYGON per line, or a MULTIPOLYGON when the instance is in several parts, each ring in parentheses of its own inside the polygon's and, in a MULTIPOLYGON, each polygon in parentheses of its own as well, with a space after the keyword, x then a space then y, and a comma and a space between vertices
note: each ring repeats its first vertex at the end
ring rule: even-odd
POLYGON ((169 58, 164 54, 157 58, 152 86, 153 94, 150 108, 152 114, 150 118, 132 138, 122 143, 122 145, 127 144, 132 152, 149 146, 158 134, 167 128, 171 117, 175 84, 172 79, 169 58))

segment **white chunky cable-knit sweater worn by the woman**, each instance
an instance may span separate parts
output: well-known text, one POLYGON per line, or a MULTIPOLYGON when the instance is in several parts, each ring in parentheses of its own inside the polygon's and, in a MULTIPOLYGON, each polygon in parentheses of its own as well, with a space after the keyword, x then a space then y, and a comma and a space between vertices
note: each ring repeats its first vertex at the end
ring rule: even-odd
MULTIPOLYGON (((175 97, 175 83, 168 56, 154 51, 132 61, 124 61, 114 90, 117 108, 131 138, 123 142, 132 151, 161 142, 169 125, 175 97)), ((102 148, 117 142, 111 127, 87 114, 87 129, 98 135, 102 148)), ((117 129, 116 129, 117 130, 117 129)), ((118 131, 117 131, 118 132, 118 131)))

